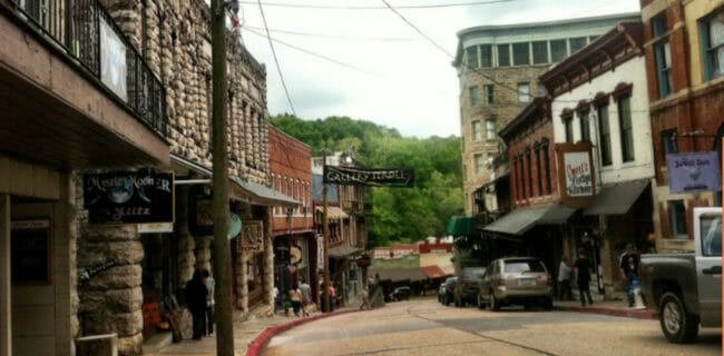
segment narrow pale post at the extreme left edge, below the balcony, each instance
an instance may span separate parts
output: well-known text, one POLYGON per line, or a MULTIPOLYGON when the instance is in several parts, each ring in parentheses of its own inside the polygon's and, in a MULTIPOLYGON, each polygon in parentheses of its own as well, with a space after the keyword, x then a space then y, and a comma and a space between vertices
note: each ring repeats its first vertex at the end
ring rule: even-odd
POLYGON ((12 355, 10 195, 0 194, 0 356, 12 355))

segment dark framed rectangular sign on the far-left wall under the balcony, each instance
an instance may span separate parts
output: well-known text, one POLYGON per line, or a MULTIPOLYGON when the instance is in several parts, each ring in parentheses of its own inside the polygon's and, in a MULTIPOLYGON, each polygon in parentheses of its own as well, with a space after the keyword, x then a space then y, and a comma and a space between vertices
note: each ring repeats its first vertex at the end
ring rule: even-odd
POLYGON ((50 220, 10 224, 12 283, 50 284, 50 220))

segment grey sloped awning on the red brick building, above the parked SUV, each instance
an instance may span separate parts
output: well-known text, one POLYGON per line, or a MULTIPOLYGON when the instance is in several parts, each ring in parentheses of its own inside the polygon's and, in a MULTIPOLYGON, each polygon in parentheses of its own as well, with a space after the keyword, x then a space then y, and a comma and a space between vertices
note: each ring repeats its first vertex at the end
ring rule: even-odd
POLYGON ((483 228, 486 231, 522 235, 536 225, 565 224, 576 209, 559 204, 516 209, 483 228))

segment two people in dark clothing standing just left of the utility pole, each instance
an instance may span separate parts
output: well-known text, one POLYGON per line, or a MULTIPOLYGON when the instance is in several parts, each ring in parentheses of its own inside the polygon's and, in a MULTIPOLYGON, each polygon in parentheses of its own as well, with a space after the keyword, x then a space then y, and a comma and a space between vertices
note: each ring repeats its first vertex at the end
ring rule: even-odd
POLYGON ((193 339, 214 334, 214 288, 216 281, 208 269, 196 270, 186 283, 186 305, 192 313, 193 339))

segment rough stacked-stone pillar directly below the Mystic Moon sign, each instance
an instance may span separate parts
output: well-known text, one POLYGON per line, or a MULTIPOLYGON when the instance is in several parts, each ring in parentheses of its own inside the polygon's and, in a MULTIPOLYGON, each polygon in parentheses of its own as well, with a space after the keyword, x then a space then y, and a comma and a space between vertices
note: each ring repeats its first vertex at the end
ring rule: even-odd
POLYGON ((85 335, 118 334, 119 355, 140 355, 144 340, 141 266, 144 246, 135 225, 81 224, 78 268, 116 265, 78 286, 85 335))

